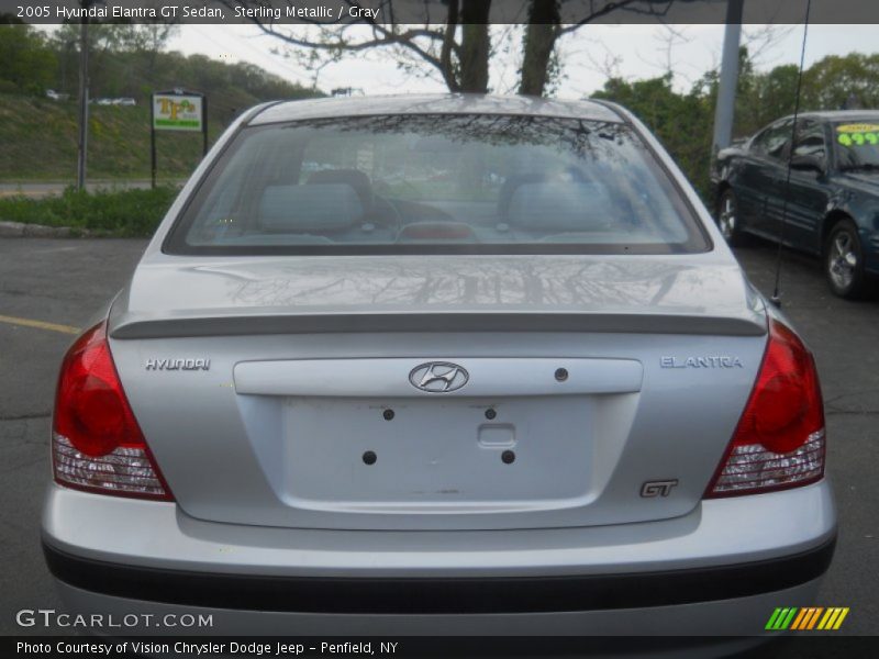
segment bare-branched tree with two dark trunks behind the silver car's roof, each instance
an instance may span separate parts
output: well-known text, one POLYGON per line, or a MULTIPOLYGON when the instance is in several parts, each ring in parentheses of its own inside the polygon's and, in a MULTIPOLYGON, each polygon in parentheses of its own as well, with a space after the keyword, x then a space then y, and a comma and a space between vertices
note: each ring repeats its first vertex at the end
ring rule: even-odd
MULTIPOLYGON (((254 9, 260 0, 221 0, 231 8, 254 9)), ((554 76, 558 75, 556 57, 558 41, 583 25, 612 12, 636 12, 661 18, 676 0, 521 0, 526 9, 527 24, 522 36, 523 60, 520 69, 519 92, 543 96, 554 76), (563 13, 575 15, 576 21, 563 25, 563 13)), ((678 0, 682 2, 700 0, 678 0)), ((287 4, 294 4, 287 0, 287 4)), ((360 11, 365 3, 343 0, 353 10, 354 18, 327 24, 309 21, 305 27, 285 29, 275 21, 262 18, 258 12, 248 16, 265 34, 290 46, 296 57, 313 70, 327 63, 374 49, 390 51, 398 65, 414 75, 437 76, 449 91, 487 92, 490 89, 489 62, 494 54, 492 31, 489 29, 491 0, 443 0, 443 13, 431 14, 424 3, 424 22, 398 23, 394 0, 377 0, 379 13, 360 11), (385 18, 389 20, 385 22, 385 18)), ((410 11, 418 3, 405 5, 410 11)), ((509 5, 505 5, 509 7, 509 5)), ((398 2, 398 9, 400 3, 398 2)), ((566 14, 567 15, 567 14, 566 14)))

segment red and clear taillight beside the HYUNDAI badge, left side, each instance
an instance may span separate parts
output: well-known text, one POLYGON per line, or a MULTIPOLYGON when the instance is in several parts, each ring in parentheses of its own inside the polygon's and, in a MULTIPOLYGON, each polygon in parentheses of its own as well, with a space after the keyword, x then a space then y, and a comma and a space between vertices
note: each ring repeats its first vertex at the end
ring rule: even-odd
POLYGON ((107 323, 64 357, 52 427, 55 480, 102 494, 173 500, 116 373, 107 323))

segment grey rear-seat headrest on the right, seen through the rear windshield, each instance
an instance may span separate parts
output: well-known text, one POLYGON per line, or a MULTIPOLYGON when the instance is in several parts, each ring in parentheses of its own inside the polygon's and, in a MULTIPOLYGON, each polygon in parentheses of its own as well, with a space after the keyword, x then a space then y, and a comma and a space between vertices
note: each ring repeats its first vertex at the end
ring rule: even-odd
POLYGON ((592 231, 603 228, 613 216, 613 204, 604 188, 596 183, 522 183, 507 209, 507 222, 533 231, 592 231))

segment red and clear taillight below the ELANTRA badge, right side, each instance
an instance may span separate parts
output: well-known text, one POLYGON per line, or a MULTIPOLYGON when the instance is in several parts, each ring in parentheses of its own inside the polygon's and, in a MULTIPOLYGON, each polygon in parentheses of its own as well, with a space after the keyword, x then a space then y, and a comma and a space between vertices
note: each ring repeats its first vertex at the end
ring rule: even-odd
POLYGON ((760 372, 705 498, 805 485, 824 476, 824 404, 812 354, 769 321, 760 372))

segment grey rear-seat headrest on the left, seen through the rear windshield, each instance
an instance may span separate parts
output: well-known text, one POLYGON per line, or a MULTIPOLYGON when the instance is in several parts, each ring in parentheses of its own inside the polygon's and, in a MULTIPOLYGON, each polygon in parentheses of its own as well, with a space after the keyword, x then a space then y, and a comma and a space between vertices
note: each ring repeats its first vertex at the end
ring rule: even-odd
POLYGON ((269 186, 259 201, 259 226, 270 232, 341 231, 363 214, 357 192, 346 183, 269 186))

